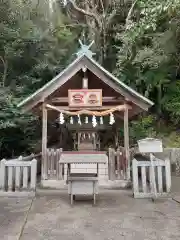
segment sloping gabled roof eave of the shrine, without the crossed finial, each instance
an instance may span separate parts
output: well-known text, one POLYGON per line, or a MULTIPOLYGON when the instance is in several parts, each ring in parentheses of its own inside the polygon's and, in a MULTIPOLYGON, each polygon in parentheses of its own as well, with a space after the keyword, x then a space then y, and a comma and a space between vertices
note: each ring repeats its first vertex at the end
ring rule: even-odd
POLYGON ((132 102, 133 105, 136 105, 139 109, 138 111, 148 110, 153 105, 152 101, 121 82, 106 69, 104 69, 100 64, 98 64, 94 59, 88 57, 87 55, 82 55, 73 61, 64 71, 58 74, 50 82, 20 102, 18 107, 21 107, 24 111, 33 109, 35 106, 46 101, 51 94, 60 89, 62 85, 64 85, 68 80, 81 71, 83 67, 86 67, 107 86, 123 96, 124 99, 132 102))

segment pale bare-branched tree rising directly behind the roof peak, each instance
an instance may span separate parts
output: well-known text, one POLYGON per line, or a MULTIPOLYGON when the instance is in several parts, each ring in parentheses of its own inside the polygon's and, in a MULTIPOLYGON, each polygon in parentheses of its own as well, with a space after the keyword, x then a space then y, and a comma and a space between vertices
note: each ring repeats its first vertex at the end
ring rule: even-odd
POLYGON ((116 0, 66 1, 65 9, 70 19, 84 24, 85 36, 90 41, 94 40, 98 61, 104 66, 109 66, 110 62, 115 63, 113 28, 117 16, 121 14, 121 8, 121 1, 116 0))

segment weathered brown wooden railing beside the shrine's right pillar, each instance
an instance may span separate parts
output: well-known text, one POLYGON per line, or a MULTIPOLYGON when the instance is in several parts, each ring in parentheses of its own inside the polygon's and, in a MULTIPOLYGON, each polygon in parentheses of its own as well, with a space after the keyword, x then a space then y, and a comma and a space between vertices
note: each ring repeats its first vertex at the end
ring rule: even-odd
POLYGON ((120 147, 117 150, 113 148, 109 149, 109 179, 127 179, 127 162, 123 147, 120 147))

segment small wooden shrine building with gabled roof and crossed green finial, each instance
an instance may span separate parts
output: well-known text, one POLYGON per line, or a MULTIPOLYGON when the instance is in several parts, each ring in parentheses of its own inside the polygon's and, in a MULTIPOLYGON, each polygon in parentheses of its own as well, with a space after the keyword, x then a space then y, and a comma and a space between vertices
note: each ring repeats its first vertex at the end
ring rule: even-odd
MULTIPOLYGON (((31 111, 42 119, 44 186, 65 184, 66 166, 59 165, 63 152, 107 154, 107 164, 99 169, 100 178, 130 181, 129 121, 148 111, 153 102, 104 69, 93 58, 90 47, 91 44, 81 43, 69 66, 18 105, 24 112, 31 111), (57 144, 48 142, 48 138, 54 137, 53 132, 48 134, 48 123, 56 123, 61 129, 57 144)), ((74 171, 78 168, 75 165, 74 171)), ((93 167, 87 164, 81 171, 91 172, 93 167)))

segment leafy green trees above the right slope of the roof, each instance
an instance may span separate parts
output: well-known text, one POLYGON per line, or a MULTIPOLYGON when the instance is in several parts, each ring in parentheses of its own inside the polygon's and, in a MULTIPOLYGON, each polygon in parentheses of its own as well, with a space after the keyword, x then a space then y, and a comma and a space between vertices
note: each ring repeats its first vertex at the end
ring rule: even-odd
POLYGON ((158 119, 178 124, 180 1, 135 2, 125 30, 117 34, 115 73, 154 101, 158 119))

